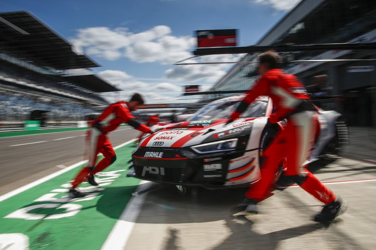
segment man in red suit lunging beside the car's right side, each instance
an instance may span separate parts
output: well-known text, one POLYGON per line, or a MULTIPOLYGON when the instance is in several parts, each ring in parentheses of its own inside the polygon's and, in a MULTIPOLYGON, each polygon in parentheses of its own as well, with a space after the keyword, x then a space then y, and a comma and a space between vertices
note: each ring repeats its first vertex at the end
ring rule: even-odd
POLYGON ((270 196, 276 166, 286 158, 286 175, 291 176, 302 189, 325 204, 314 220, 327 222, 344 213, 346 207, 331 190, 308 171, 306 166, 302 166, 309 159, 317 138, 318 113, 314 106, 307 102, 310 99, 309 94, 296 76, 287 75, 279 68, 281 61, 276 51, 266 51, 259 55, 258 71, 261 77, 227 122, 239 118, 258 96, 269 96, 277 109, 277 112, 268 118, 268 123, 277 123, 285 118, 288 121, 285 129, 264 151, 261 180, 250 186, 246 192, 246 199, 237 208, 257 213, 257 203, 270 196))

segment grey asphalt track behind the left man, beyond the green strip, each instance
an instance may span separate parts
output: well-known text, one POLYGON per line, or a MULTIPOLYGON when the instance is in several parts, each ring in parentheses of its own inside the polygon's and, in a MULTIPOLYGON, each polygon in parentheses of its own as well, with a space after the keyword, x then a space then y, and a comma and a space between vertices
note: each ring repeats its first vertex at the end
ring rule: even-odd
MULTIPOLYGON (((0 195, 86 160, 87 131, 0 138, 0 195)), ((140 133, 129 127, 119 127, 109 133, 109 138, 115 147, 140 133)))

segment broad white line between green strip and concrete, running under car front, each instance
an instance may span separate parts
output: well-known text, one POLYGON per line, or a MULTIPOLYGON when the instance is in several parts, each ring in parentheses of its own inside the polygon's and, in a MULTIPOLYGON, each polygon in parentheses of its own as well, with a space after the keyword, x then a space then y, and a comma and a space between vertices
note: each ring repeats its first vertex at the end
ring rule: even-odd
MULTIPOLYGON (((136 191, 139 189, 147 189, 152 185, 149 181, 141 181, 138 184, 136 191), (146 183, 146 184, 145 184, 146 183), (140 185, 145 184, 145 185, 140 185)), ((146 199, 147 194, 140 196, 133 196, 130 198, 127 206, 124 208, 123 213, 121 213, 120 218, 116 222, 114 228, 112 228, 110 234, 108 235, 105 243, 100 250, 123 250, 127 244, 130 233, 135 226, 136 219, 141 212, 142 206, 146 199)))

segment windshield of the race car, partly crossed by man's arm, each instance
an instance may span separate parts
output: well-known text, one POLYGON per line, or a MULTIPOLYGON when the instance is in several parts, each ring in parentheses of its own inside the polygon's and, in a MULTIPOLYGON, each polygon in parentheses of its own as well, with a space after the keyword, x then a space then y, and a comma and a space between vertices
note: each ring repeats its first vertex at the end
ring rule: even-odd
MULTIPOLYGON (((239 106, 241 100, 231 100, 229 102, 215 102, 203 106, 189 120, 214 120, 229 118, 231 113, 239 106)), ((262 117, 265 115, 268 102, 255 100, 240 117, 262 117)))

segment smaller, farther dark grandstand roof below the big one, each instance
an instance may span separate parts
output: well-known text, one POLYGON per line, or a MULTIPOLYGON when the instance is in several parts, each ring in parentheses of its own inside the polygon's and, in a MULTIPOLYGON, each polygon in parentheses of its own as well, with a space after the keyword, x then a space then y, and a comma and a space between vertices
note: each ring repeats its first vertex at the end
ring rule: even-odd
POLYGON ((96 75, 64 76, 63 79, 97 93, 121 91, 96 75))

